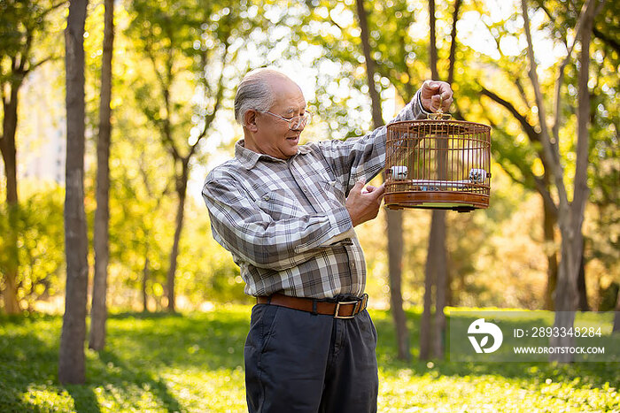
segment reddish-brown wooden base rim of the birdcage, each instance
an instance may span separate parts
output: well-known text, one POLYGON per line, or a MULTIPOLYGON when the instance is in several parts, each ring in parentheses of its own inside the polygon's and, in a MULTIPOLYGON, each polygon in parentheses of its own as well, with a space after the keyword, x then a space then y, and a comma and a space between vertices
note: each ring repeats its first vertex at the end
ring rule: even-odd
POLYGON ((489 207, 489 196, 461 192, 396 192, 385 194, 385 206, 391 210, 415 208, 423 210, 456 210, 471 212, 489 207))

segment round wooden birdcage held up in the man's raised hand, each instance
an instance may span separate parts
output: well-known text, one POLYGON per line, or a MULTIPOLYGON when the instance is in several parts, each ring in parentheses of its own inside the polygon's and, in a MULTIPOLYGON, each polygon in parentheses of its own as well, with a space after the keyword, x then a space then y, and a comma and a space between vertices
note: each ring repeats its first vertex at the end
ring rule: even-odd
POLYGON ((387 126, 388 208, 469 212, 488 208, 491 127, 431 114, 387 126))

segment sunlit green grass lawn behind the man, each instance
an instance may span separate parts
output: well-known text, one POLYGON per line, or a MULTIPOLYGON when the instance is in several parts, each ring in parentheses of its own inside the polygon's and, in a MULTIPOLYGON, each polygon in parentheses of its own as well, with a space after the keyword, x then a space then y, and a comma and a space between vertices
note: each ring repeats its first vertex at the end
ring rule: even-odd
MULTIPOLYGON (((87 350, 84 386, 58 385, 61 317, 0 317, 0 412, 245 411, 249 314, 112 315, 105 352, 87 350)), ((371 314, 381 412, 620 412, 619 363, 403 363, 390 314, 371 314)), ((417 356, 420 315, 408 317, 417 356)))

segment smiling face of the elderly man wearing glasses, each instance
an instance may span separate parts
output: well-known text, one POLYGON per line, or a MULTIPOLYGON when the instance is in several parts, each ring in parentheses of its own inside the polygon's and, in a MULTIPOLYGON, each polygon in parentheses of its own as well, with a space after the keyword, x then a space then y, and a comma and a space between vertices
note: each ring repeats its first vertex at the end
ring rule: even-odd
MULTIPOLYGON (((269 108, 271 113, 290 119, 306 112, 306 99, 292 80, 277 77, 271 79, 270 84, 275 96, 275 102, 269 108)), ((286 120, 257 112, 256 127, 257 131, 253 134, 255 148, 249 149, 279 159, 288 159, 297 154, 299 135, 304 126, 291 130, 286 120)))

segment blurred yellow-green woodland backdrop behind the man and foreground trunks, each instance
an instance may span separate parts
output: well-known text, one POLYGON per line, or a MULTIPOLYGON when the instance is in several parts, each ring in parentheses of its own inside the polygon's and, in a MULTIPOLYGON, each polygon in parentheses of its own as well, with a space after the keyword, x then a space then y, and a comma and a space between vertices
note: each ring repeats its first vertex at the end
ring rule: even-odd
MULTIPOLYGON (((562 241, 553 206, 559 193, 541 143, 520 3, 434 3, 437 73, 452 80, 453 116, 493 127, 490 208, 446 213, 446 305, 553 309, 562 241)), ((554 87, 584 3, 528 2, 545 109, 552 114, 557 109, 562 119, 554 124, 553 115, 547 116, 552 135, 559 138, 567 187, 577 167, 578 39, 566 61, 557 108, 554 87)), ((605 2, 596 14, 589 52, 589 195, 579 291, 582 308, 593 310, 612 310, 620 285, 616 3, 605 2)), ((363 4, 368 53, 375 63, 372 80, 385 123, 431 77, 429 4, 363 4)), ((65 50, 58 33, 67 3, 0 2, 0 11, 0 308, 60 310, 66 287, 65 182, 54 171, 57 166, 64 171, 66 162, 65 68, 59 59, 65 50)), ((117 2, 109 160, 107 294, 112 308, 154 311, 250 302, 238 268, 213 241, 200 198, 206 173, 232 156, 242 134, 232 114, 236 84, 254 67, 275 65, 298 80, 309 110, 316 113, 306 141, 364 134, 376 121, 358 19, 354 0, 117 2)), ((91 2, 84 34, 89 245, 97 208, 103 39, 104 4, 91 2)), ((572 200, 571 189, 567 195, 572 200)), ((405 307, 422 307, 431 213, 405 210, 401 215, 399 295, 405 307)), ((374 305, 389 306, 384 219, 361 226, 359 233, 368 261, 368 293, 374 305)), ((89 265, 94 265, 92 252, 89 265)))

